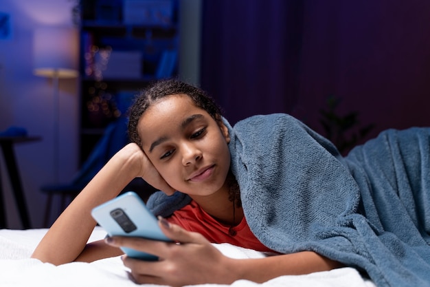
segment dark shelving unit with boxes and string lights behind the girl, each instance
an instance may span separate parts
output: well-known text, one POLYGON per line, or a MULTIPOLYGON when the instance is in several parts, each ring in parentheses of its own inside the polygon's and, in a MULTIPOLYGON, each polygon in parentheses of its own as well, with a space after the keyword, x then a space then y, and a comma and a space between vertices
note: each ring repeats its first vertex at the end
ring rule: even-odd
POLYGON ((80 2, 83 162, 105 127, 124 116, 135 94, 152 81, 177 76, 180 28, 177 0, 80 2), (151 13, 142 18, 142 12, 148 11, 151 13), (157 18, 157 11, 166 18, 157 18), (155 12, 157 17, 152 17, 155 12))

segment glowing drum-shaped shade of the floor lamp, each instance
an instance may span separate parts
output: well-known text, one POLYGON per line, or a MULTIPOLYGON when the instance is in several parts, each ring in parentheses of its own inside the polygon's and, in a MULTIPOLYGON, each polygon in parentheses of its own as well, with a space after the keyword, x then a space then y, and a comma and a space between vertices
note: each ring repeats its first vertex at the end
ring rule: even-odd
POLYGON ((34 32, 34 74, 78 76, 78 31, 75 28, 38 28, 34 32))

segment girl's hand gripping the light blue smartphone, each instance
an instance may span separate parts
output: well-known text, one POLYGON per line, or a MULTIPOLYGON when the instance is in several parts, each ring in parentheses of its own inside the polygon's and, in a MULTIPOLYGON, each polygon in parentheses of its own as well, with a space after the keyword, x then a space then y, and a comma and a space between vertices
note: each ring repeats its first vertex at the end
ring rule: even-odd
POLYGON ((159 257, 146 262, 124 255, 124 265, 139 284, 184 286, 190 284, 230 284, 235 280, 231 270, 233 259, 225 257, 203 235, 185 231, 176 224, 160 220, 163 232, 178 244, 146 240, 139 237, 110 237, 106 243, 124 246, 159 257))

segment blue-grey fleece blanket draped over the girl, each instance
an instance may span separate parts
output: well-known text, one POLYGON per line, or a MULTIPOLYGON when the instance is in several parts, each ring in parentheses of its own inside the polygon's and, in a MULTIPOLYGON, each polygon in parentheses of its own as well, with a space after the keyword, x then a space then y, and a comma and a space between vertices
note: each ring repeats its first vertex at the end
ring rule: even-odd
MULTIPOLYGON (((346 158, 286 114, 232 128, 231 170, 251 231, 280 253, 317 253, 377 286, 430 286, 430 129, 388 130, 346 158)), ((167 216, 188 204, 157 193, 167 216)))

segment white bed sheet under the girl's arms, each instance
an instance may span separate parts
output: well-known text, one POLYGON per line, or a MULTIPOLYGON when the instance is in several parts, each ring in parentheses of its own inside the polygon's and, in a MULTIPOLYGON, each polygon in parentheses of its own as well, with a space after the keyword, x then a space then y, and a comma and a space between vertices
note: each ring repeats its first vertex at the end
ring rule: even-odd
MULTIPOLYGON (((72 262, 61 266, 44 264, 30 255, 47 229, 0 230, 0 286, 137 286, 128 277, 128 270, 120 257, 101 259, 92 263, 72 262)), ((106 233, 102 228, 95 228, 89 241, 99 240, 106 233)), ((214 244, 225 255, 235 258, 262 257, 262 253, 230 244, 214 244)), ((53 251, 55 252, 55 251, 53 251)), ((143 285, 153 286, 153 285, 143 285)), ((247 280, 238 280, 231 285, 203 284, 205 287, 278 287, 278 286, 313 286, 313 287, 376 287, 372 281, 361 277, 354 268, 339 268, 328 272, 301 276, 281 276, 263 284, 247 280)))

